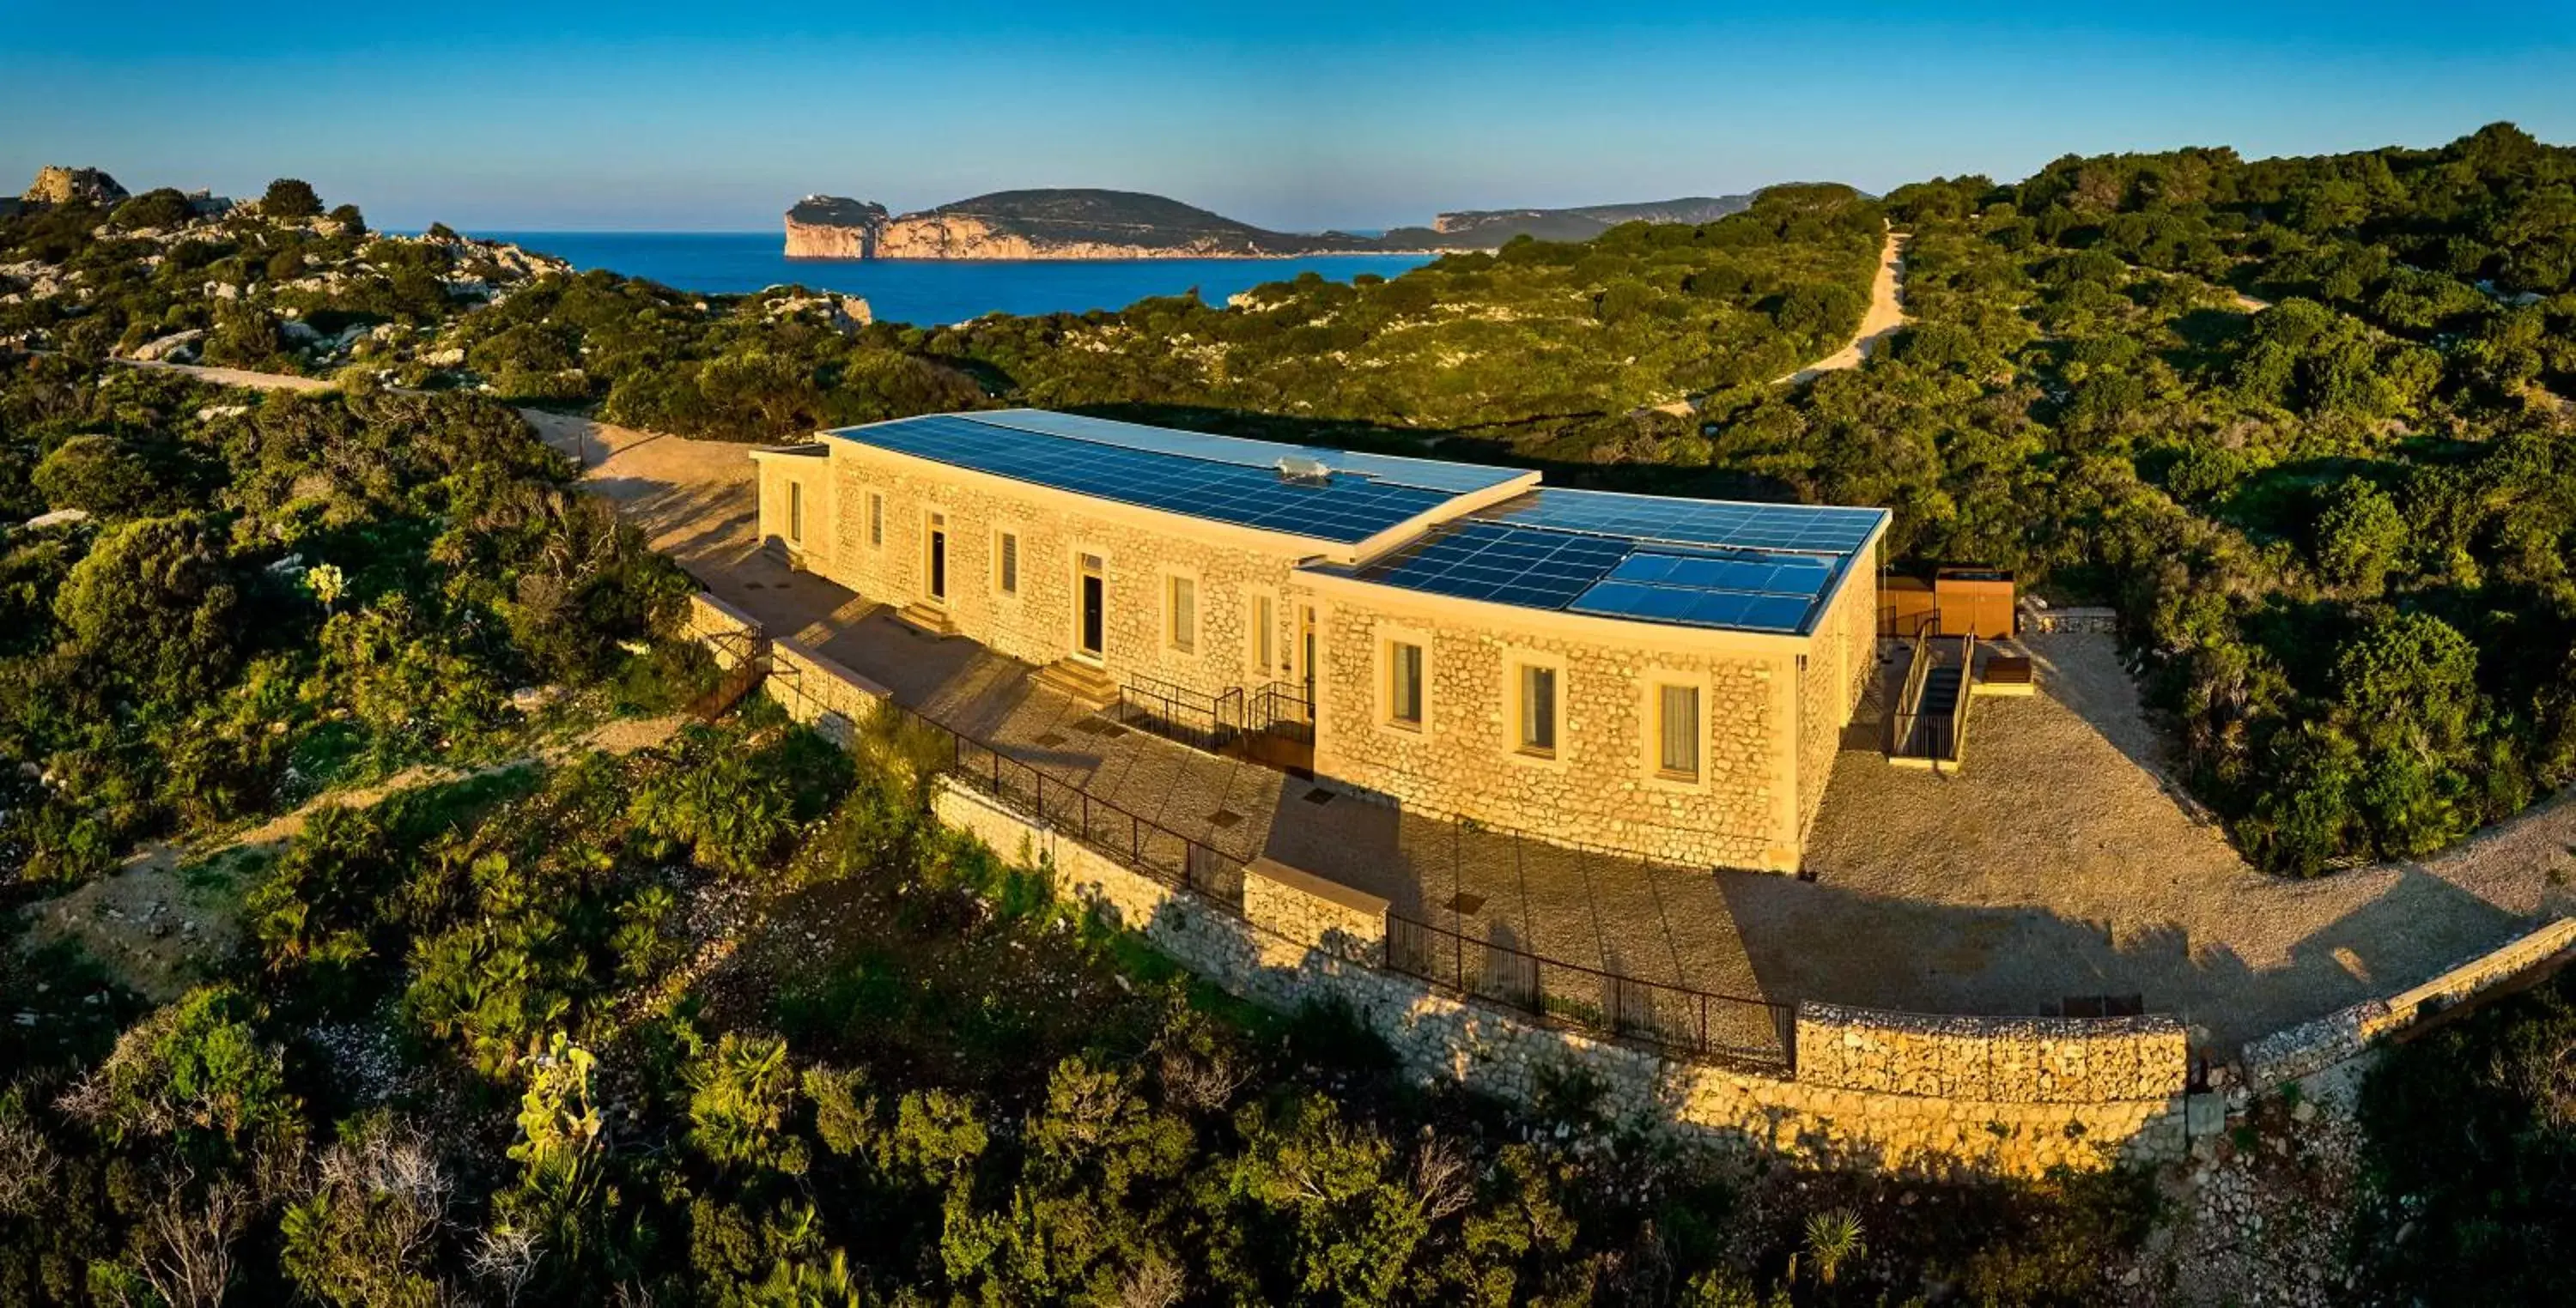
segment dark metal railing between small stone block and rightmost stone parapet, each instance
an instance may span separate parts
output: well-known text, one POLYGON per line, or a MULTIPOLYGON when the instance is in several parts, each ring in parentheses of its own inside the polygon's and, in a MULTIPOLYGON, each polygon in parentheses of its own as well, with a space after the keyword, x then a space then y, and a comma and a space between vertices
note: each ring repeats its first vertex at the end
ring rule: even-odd
POLYGON ((1788 1071, 1798 1063, 1795 1004, 1638 981, 1399 911, 1386 914, 1386 968, 1667 1053, 1754 1071, 1788 1071))

